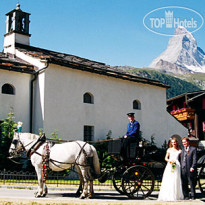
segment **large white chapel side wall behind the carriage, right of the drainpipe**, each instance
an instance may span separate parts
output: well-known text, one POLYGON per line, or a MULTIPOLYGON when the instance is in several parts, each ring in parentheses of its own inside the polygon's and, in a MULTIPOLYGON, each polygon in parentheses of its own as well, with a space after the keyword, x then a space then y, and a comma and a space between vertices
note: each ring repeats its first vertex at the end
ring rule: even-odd
POLYGON ((90 125, 94 126, 94 140, 104 139, 109 130, 112 137, 117 138, 126 132, 128 112, 136 113, 143 137, 150 140, 154 136, 158 146, 173 134, 186 131, 166 111, 165 88, 53 64, 44 74, 45 79, 40 77, 37 83, 41 92, 36 94, 35 132, 43 128, 49 136, 57 129, 62 139, 83 140, 83 127, 90 125), (92 93, 94 104, 83 103, 86 92, 92 93), (42 95, 44 101, 40 98, 42 95), (141 102, 141 110, 132 108, 136 99, 141 102))

